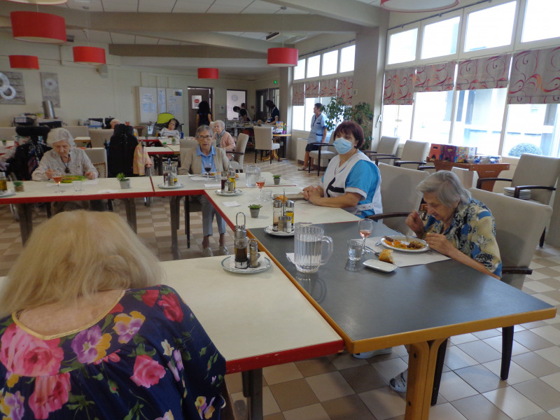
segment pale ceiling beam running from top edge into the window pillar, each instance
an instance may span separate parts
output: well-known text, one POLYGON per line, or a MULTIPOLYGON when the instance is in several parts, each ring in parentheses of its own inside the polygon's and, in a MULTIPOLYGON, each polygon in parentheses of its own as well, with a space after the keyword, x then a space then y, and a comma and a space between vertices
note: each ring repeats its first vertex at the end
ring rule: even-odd
MULTIPOLYGON (((356 0, 262 0, 267 3, 304 10, 316 15, 332 18, 346 25, 378 27, 381 20, 388 20, 388 13, 377 6, 356 0)), ((278 15, 281 15, 279 13, 278 15)), ((290 15, 290 20, 291 20, 290 15)))

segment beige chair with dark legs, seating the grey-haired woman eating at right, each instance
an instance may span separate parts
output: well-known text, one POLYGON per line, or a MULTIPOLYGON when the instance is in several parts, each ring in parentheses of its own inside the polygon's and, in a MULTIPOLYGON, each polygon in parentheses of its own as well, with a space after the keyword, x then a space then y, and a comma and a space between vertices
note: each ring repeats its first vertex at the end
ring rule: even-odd
MULTIPOLYGON (((501 281, 521 289, 525 276, 533 272, 529 265, 533 259, 540 232, 545 228, 552 215, 552 208, 538 202, 517 200, 477 188, 470 188, 470 193, 473 198, 486 204, 496 221, 496 241, 498 241, 502 260, 501 281)), ((503 296, 503 304, 507 305, 507 295, 503 296)), ((437 400, 445 344, 445 342, 442 344, 437 356, 432 405, 437 400)), ((500 378, 504 381, 510 371, 512 347, 513 325, 507 325, 502 328, 500 378)))

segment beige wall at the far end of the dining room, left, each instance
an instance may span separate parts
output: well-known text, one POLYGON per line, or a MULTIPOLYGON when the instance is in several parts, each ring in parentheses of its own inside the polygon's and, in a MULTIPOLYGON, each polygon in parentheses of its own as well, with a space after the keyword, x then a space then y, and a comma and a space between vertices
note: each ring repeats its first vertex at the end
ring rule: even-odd
MULTIPOLYGON (((176 116, 187 123, 187 87, 214 87, 215 104, 226 103, 226 90, 247 90, 248 104, 254 104, 255 82, 220 78, 199 80, 195 74, 183 70, 137 69, 120 65, 120 58, 106 54, 108 74, 102 76, 97 66, 72 62, 71 46, 26 43, 14 41, 10 33, 0 34, 0 71, 12 71, 9 54, 37 55, 41 70, 15 70, 23 74, 25 105, 0 105, 0 126, 11 125, 14 116, 22 113, 43 112, 41 106, 41 71, 57 73, 60 90, 60 108, 56 116, 67 125, 76 125, 80 118, 102 118, 114 116, 122 121, 137 125, 139 109, 137 86, 173 87, 183 89, 183 116, 176 116)), ((106 45, 96 45, 106 47, 106 45)), ((217 111, 216 106, 216 111, 217 111)), ((225 113, 216 115, 225 119, 225 113)), ((188 127, 183 127, 188 129, 188 127)))

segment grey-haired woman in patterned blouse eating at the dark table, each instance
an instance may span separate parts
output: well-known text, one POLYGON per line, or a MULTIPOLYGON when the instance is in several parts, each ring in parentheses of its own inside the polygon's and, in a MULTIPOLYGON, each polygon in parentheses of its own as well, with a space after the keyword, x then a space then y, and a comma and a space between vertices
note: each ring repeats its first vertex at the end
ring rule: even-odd
MULTIPOLYGON (((428 204, 424 224, 417 211, 407 217, 407 225, 430 248, 479 272, 500 279, 502 261, 496 242, 496 223, 484 204, 470 197, 453 172, 431 174, 417 187, 428 204)), ((405 392, 408 372, 389 381, 395 391, 405 392)))

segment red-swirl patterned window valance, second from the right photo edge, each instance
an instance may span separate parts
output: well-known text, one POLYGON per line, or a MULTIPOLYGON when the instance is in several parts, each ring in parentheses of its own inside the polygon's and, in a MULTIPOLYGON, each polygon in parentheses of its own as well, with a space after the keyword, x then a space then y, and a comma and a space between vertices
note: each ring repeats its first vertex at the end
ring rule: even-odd
POLYGON ((457 90, 497 89, 507 87, 511 54, 467 59, 459 63, 457 90))

